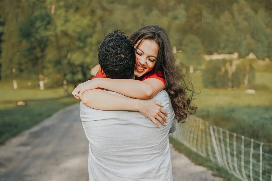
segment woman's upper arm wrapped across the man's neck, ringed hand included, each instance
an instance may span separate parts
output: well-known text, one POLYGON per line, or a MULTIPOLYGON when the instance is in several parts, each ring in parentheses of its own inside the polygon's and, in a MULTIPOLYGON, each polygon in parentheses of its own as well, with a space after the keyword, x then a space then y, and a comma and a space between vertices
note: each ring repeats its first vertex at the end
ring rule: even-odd
POLYGON ((78 97, 81 97, 84 91, 98 87, 118 92, 127 97, 151 99, 164 89, 164 83, 156 78, 147 78, 144 81, 133 79, 95 78, 79 84, 75 90, 79 91, 78 97))

